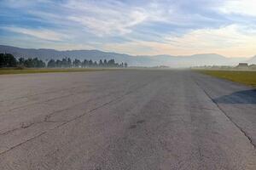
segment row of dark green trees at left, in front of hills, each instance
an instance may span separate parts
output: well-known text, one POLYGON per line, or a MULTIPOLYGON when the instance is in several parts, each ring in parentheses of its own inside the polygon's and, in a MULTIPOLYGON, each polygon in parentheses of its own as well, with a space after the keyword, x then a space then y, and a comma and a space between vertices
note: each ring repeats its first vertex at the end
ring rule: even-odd
POLYGON ((80 61, 79 59, 49 59, 46 64, 43 60, 38 58, 29 59, 15 59, 12 54, 0 54, 0 68, 5 67, 27 67, 27 68, 73 68, 73 67, 127 67, 127 63, 116 63, 114 59, 100 59, 100 61, 93 61, 91 59, 84 59, 80 61))

